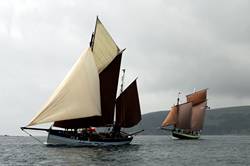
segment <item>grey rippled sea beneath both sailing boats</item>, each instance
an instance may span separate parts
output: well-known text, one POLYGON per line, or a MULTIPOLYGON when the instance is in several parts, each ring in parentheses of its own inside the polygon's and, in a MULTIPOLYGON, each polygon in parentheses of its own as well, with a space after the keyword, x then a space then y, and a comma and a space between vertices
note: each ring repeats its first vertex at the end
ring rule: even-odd
MULTIPOLYGON (((46 137, 38 137, 45 141, 46 137)), ((250 165, 250 136, 135 136, 118 147, 47 147, 32 137, 0 136, 0 165, 230 166, 250 165)))

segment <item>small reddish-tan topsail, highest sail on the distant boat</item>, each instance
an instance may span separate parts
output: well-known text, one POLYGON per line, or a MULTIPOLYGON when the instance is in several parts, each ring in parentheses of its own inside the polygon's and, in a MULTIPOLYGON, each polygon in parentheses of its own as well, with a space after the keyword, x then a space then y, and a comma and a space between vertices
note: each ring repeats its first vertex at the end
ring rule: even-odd
POLYGON ((207 89, 203 89, 187 95, 187 102, 192 102, 193 105, 200 104, 207 100, 207 89))

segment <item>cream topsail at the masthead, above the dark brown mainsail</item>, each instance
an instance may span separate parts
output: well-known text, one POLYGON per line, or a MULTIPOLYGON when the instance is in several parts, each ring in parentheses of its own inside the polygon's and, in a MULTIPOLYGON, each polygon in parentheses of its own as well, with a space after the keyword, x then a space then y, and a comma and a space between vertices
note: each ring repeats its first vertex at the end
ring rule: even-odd
POLYGON ((98 18, 96 20, 92 47, 99 73, 101 73, 119 53, 119 48, 116 43, 98 18))

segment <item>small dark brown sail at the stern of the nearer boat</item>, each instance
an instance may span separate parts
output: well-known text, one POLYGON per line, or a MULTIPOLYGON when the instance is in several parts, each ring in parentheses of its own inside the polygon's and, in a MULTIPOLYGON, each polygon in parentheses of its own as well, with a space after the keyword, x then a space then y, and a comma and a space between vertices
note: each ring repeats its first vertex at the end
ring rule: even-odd
POLYGON ((136 80, 116 100, 116 125, 133 127, 141 120, 141 109, 136 80))

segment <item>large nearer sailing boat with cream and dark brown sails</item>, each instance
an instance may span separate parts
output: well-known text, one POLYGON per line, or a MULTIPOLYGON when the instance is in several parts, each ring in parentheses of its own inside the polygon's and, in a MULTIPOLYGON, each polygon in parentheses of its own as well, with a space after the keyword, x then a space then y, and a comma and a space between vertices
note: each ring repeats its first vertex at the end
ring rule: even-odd
POLYGON ((89 48, 81 54, 41 112, 21 129, 47 131, 47 145, 129 144, 133 135, 141 131, 129 134, 121 128, 138 124, 141 111, 136 79, 116 98, 124 50, 118 48, 97 17, 89 48), (30 127, 49 122, 53 122, 49 129, 30 127), (95 127, 107 130, 98 132, 95 127))

